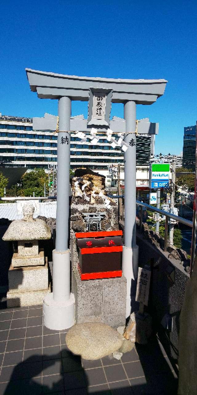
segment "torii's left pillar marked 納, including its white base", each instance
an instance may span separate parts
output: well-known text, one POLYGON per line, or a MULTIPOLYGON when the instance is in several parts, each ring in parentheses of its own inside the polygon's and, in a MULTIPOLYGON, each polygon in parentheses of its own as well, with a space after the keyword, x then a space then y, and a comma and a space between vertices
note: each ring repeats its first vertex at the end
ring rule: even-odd
POLYGON ((53 292, 43 301, 44 324, 50 329, 66 329, 74 325, 74 295, 70 292, 69 237, 69 177, 70 177, 70 118, 71 99, 58 102, 58 169, 56 249, 53 250, 53 292))

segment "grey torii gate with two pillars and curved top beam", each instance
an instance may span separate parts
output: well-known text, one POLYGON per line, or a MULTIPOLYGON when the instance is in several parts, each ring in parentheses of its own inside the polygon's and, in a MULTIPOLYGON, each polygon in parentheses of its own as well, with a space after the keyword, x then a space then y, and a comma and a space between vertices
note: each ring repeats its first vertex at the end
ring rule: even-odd
MULTIPOLYGON (((46 295, 43 302, 44 323, 50 329, 59 330, 74 324, 74 295, 70 293, 70 250, 68 249, 71 101, 88 101, 90 89, 111 91, 113 103, 124 103, 125 141, 129 145, 124 158, 125 247, 123 248, 123 275, 127 280, 126 317, 128 317, 131 309, 131 280, 136 278, 138 273, 136 104, 156 102, 157 98, 164 94, 167 81, 78 77, 31 69, 26 69, 26 73, 31 90, 37 92, 39 98, 59 101, 56 249, 53 251, 53 293, 46 295)), ((104 129, 106 130, 106 126, 98 127, 98 130, 104 129)))

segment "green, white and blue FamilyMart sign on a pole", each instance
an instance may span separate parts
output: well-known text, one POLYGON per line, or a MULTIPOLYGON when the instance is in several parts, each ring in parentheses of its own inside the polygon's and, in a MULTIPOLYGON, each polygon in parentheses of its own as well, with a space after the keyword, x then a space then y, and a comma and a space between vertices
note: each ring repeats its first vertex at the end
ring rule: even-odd
POLYGON ((151 188, 165 188, 169 185, 169 164, 152 163, 151 188))

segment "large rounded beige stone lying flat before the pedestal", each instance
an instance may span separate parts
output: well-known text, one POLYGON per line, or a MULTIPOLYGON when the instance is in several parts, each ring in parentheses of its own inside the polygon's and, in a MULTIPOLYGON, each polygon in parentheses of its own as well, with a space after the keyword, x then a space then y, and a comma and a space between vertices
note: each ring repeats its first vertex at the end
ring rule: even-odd
POLYGON ((66 344, 73 354, 84 359, 100 359, 117 351, 123 337, 109 325, 100 322, 76 324, 66 335, 66 344))

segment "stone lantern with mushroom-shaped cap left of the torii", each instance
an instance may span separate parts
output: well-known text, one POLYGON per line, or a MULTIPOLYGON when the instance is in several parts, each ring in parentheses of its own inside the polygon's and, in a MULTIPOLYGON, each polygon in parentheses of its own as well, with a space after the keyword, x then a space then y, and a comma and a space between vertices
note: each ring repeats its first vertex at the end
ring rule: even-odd
POLYGON ((50 292, 48 263, 39 240, 51 238, 45 221, 33 219, 34 207, 23 207, 24 218, 13 221, 3 236, 4 241, 18 241, 18 252, 13 254, 8 272, 7 307, 38 305, 50 292))

